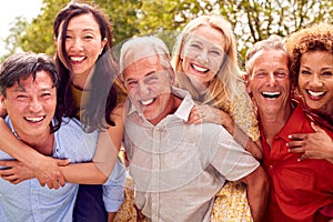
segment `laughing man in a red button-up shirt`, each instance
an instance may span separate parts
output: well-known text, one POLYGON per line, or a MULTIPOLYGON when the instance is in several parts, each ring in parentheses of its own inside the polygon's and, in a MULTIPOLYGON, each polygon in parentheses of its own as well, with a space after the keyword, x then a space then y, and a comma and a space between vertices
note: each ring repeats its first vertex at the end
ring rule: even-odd
POLYGON ((300 161, 302 153, 292 153, 286 145, 290 134, 314 132, 302 108, 291 100, 289 64, 279 37, 255 43, 246 54, 248 90, 258 107, 263 164, 271 183, 265 221, 329 221, 321 211, 333 204, 333 164, 300 161))

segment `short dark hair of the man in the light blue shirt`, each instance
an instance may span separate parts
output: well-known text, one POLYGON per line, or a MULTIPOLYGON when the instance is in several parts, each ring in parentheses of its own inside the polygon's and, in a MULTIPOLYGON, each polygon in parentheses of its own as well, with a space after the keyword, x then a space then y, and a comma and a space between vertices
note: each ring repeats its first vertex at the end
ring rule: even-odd
MULTIPOLYGON (((57 72, 54 61, 46 54, 37 54, 33 52, 20 52, 7 58, 0 69, 0 93, 6 98, 6 89, 11 88, 16 82, 21 85, 21 80, 27 80, 30 75, 36 80, 36 72, 47 71, 52 81, 53 87, 58 90, 60 77, 57 72)), ((57 98, 57 102, 59 99, 57 98)), ((62 121, 62 109, 57 103, 54 113, 54 125, 50 123, 51 132, 59 130, 62 121)))

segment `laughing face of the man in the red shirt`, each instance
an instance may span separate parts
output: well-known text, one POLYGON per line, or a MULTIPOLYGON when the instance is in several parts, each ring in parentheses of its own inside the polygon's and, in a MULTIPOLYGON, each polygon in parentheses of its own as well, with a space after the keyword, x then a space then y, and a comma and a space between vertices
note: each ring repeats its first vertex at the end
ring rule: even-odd
POLYGON ((261 115, 285 115, 290 104, 291 79, 287 56, 282 50, 261 50, 250 60, 248 90, 261 115))

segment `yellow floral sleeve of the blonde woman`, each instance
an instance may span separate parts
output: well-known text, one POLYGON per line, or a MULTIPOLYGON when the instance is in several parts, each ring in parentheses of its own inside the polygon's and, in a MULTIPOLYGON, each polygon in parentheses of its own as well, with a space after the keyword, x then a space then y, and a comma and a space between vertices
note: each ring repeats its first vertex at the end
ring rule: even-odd
POLYGON ((246 92, 245 85, 239 83, 239 88, 243 93, 231 103, 231 117, 234 122, 253 140, 256 141, 260 138, 258 120, 254 112, 254 107, 246 92))

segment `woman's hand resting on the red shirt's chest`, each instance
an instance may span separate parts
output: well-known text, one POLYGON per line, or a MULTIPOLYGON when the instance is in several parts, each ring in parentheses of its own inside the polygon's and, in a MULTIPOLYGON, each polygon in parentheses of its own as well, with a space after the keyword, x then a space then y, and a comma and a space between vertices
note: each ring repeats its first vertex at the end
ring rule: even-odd
POLYGON ((303 153, 300 161, 304 159, 324 159, 333 163, 333 141, 331 137, 320 127, 311 123, 314 133, 291 134, 291 142, 286 143, 292 153, 303 153))

